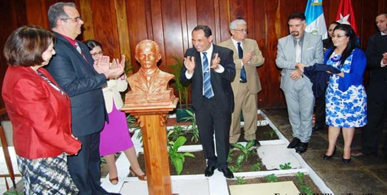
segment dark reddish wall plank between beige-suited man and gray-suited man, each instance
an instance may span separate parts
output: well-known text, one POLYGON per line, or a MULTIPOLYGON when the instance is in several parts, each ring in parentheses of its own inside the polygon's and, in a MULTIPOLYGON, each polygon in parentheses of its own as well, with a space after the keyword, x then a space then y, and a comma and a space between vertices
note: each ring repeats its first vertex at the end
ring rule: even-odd
MULTIPOLYGON (((265 58, 265 63, 258 68, 258 74, 260 76, 262 91, 258 94, 258 106, 260 108, 267 107, 267 93, 269 92, 268 78, 266 77, 269 70, 269 61, 272 61, 268 58, 267 47, 266 47, 266 13, 265 13, 265 0, 253 1, 251 7, 253 8, 253 18, 254 20, 250 22, 248 29, 253 29, 252 33, 255 40, 258 42, 259 49, 262 52, 263 57, 265 58)), ((251 31, 251 30, 250 30, 251 31)))

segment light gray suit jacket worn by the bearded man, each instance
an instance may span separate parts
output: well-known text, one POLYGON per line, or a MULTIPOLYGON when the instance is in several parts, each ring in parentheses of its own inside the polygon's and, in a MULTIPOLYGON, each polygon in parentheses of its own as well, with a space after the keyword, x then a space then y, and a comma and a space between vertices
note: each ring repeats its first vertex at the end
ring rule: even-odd
MULTIPOLYGON (((320 36, 304 32, 304 40, 301 50, 301 63, 306 66, 313 66, 315 63, 321 64, 324 60, 322 40, 320 36)), ((295 70, 295 44, 292 35, 288 35, 278 40, 277 58, 275 62, 281 71, 281 89, 286 92, 293 88, 294 80, 290 78, 290 73, 295 70)), ((305 84, 312 88, 309 79, 302 79, 305 84)))

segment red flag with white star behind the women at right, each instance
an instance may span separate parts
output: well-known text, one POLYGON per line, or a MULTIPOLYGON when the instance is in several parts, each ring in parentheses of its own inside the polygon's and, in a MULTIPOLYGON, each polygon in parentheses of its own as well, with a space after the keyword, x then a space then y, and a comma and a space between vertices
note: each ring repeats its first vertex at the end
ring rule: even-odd
POLYGON ((340 24, 349 24, 356 33, 356 37, 359 39, 358 28, 356 27, 355 14, 353 13, 351 0, 340 0, 338 13, 336 15, 336 21, 340 24))

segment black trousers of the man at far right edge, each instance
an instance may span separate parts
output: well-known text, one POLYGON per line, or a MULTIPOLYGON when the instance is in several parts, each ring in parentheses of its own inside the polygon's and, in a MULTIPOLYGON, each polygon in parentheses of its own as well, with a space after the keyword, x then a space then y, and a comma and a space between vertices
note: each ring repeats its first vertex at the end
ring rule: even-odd
MULTIPOLYGON (((367 125, 362 131, 362 152, 368 155, 378 154, 378 142, 385 129, 387 116, 387 83, 370 83, 367 89, 367 125)), ((387 155, 387 137, 383 146, 387 155)))

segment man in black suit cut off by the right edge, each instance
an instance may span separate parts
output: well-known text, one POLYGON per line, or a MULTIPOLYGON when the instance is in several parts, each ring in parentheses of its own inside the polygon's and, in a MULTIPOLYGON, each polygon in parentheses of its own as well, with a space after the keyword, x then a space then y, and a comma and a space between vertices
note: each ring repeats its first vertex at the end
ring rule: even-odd
MULTIPOLYGON (((387 117, 387 13, 375 19, 379 33, 368 39, 367 56, 369 84, 367 88, 368 124, 362 131, 362 149, 351 156, 361 157, 378 154, 378 142, 385 129, 387 117)), ((387 138, 383 146, 387 156, 387 138)))

